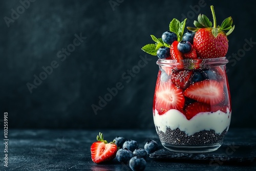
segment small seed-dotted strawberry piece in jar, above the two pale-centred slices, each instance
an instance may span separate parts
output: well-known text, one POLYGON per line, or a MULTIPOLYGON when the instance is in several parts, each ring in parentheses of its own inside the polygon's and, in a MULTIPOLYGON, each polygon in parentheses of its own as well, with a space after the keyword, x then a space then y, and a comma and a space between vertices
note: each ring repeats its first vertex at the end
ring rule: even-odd
POLYGON ((191 70, 177 70, 172 74, 172 82, 181 89, 186 89, 190 85, 191 70))

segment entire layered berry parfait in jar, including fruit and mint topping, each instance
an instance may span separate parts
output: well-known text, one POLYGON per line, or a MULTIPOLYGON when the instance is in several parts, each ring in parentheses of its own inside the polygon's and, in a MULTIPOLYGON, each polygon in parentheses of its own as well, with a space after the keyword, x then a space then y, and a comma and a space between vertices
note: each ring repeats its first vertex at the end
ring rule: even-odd
POLYGON ((142 48, 158 56, 153 118, 162 145, 176 152, 211 152, 218 149, 229 129, 230 93, 225 55, 232 18, 221 26, 199 14, 195 28, 186 19, 173 19, 155 44, 142 48))

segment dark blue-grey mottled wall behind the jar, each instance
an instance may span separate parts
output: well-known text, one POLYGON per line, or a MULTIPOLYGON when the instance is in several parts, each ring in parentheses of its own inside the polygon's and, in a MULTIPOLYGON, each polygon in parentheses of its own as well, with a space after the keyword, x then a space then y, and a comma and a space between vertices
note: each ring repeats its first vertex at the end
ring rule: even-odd
MULTIPOLYGON (((170 20, 181 20, 183 14, 192 26, 198 11, 191 6, 199 1, 119 2, 113 10, 109 1, 37 0, 9 28, 4 17, 11 17, 11 9, 17 11, 21 4, 0 2, 0 118, 9 113, 9 128, 153 129, 157 58, 147 55, 152 60, 129 83, 122 74, 138 65, 140 56, 145 56, 141 47, 153 43, 150 34, 160 37, 170 20), (87 39, 61 61, 57 52, 80 33, 87 39), (30 93, 26 84, 33 83, 33 75, 39 76, 53 60, 58 68, 30 93), (119 81, 124 88, 95 115, 91 105, 98 105, 99 96, 119 81)), ((227 53, 231 126, 256 127, 256 47, 243 51, 245 39, 256 41, 254 6, 248 0, 205 3, 200 13, 211 18, 210 5, 214 5, 219 25, 228 16, 236 25, 228 36, 227 53), (242 57, 234 58, 232 53, 242 57)))

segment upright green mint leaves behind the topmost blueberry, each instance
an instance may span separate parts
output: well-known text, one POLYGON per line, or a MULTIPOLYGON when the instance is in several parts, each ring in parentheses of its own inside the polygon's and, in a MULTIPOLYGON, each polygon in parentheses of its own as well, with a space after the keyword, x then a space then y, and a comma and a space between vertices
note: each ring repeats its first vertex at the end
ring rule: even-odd
POLYGON ((182 35, 184 32, 184 28, 186 25, 186 20, 187 20, 187 18, 185 18, 183 20, 183 22, 180 22, 178 19, 174 18, 172 20, 172 22, 170 22, 170 24, 169 24, 169 30, 171 32, 174 32, 175 34, 177 34, 178 41, 181 41, 181 38, 182 38, 182 35))

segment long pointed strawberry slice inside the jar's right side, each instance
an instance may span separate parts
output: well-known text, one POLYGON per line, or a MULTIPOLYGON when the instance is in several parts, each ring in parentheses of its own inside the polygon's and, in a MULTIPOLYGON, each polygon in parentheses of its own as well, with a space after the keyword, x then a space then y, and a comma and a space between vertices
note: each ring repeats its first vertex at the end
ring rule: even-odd
POLYGON ((224 100, 222 85, 216 80, 203 80, 191 84, 183 93, 199 102, 215 105, 224 100))

